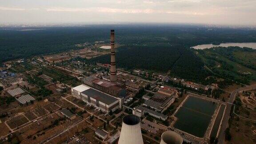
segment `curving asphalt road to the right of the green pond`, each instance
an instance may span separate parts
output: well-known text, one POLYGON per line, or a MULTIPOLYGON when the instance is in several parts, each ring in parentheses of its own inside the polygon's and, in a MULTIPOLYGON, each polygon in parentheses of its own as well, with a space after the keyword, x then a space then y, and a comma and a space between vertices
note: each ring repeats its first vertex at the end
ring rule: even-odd
MULTIPOLYGON (((256 84, 252 84, 252 85, 249 85, 249 86, 246 86, 246 87, 242 87, 242 88, 238 88, 238 89, 234 90, 233 92, 231 92, 230 98, 229 98, 228 102, 233 104, 233 102, 234 102, 238 92, 250 90, 252 88, 256 88, 256 84)), ((226 112, 224 114, 224 119, 222 121, 222 127, 220 128, 220 135, 219 135, 219 142, 218 142, 218 144, 224 144, 224 141, 225 141, 225 130, 226 130, 226 128, 228 128, 228 118, 230 116, 230 111, 231 111, 231 108, 232 108, 232 104, 228 104, 226 112)))

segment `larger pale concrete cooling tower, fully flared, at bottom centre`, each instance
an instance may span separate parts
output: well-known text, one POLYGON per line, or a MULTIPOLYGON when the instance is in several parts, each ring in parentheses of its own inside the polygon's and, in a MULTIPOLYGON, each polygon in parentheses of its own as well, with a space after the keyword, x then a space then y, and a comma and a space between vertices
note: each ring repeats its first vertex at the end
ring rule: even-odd
POLYGON ((124 116, 118 144, 143 144, 139 116, 124 116))

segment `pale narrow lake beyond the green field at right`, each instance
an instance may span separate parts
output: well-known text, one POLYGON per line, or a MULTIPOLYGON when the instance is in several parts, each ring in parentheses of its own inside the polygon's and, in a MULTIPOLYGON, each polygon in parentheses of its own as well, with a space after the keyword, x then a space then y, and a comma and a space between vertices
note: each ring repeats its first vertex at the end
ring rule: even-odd
POLYGON ((229 46, 238 46, 238 47, 248 47, 256 49, 256 43, 221 43, 220 45, 214 45, 214 44, 201 44, 197 46, 193 46, 192 48, 195 49, 204 49, 204 48, 212 48, 212 47, 229 47, 229 46))

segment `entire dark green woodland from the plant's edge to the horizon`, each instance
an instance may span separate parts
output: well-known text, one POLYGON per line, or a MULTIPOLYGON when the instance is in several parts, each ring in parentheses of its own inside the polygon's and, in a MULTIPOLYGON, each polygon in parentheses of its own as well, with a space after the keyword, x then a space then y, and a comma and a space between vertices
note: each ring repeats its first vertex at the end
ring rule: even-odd
MULTIPOLYGON (((256 62, 251 49, 209 49, 196 51, 198 53, 188 49, 197 44, 256 42, 256 29, 249 28, 210 28, 204 25, 175 24, 2 27, 0 63, 79 49, 82 47, 75 45, 81 43, 108 43, 110 29, 115 29, 116 43, 123 45, 116 55, 116 64, 120 68, 169 72, 171 76, 203 82, 209 75, 209 71, 204 68, 204 65, 207 65, 212 72, 228 79, 243 83, 255 80, 251 70, 256 70, 256 62), (241 68, 238 68, 237 64, 241 68), (221 65, 221 68, 218 68, 218 65, 221 65)), ((97 57, 92 62, 109 63, 109 55, 97 57)))

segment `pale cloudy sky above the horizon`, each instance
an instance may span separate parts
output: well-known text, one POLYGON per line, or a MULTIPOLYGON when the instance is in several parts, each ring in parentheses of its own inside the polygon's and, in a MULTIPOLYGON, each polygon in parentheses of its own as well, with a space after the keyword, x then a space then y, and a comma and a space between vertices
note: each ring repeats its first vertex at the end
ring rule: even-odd
POLYGON ((256 25, 256 0, 0 0, 0 23, 256 25))

